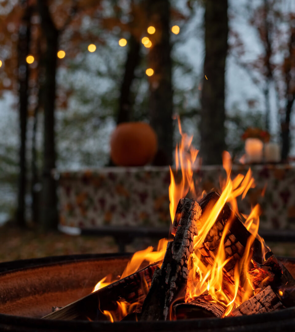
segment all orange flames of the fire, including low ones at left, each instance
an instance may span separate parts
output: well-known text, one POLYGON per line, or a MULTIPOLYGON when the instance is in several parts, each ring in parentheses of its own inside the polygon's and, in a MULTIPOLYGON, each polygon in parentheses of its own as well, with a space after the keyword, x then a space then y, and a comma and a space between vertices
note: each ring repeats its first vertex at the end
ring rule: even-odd
MULTIPOLYGON (((180 199, 186 196, 195 200, 200 198, 197 196, 199 191, 193 179, 193 172, 198 164, 198 150, 192 146, 192 136, 188 136, 186 133, 182 132, 179 118, 178 125, 182 139, 176 146, 175 160, 176 170, 181 169, 182 177, 181 181, 177 183, 173 171, 170 168, 171 183, 169 186, 169 199, 172 222, 180 199)), ((202 211, 202 215, 198 220, 198 235, 194 236, 193 252, 188 260, 189 276, 185 301, 191 301, 203 293, 208 293, 211 295, 212 301, 218 302, 224 306, 224 316, 227 316, 234 308, 253 295, 250 281, 247 278, 247 271, 249 270, 250 264, 252 264, 252 244, 254 240, 258 239, 261 243, 262 257, 265 258, 265 253, 269 251, 269 248, 258 235, 260 207, 256 205, 249 215, 242 215, 238 210, 237 198, 241 197, 241 199, 244 199, 249 189, 255 187, 251 169, 249 168, 245 176, 238 174, 235 178, 231 179, 232 160, 228 152, 223 153, 223 168, 226 171, 226 179, 220 179, 220 196, 213 206, 207 209, 205 208, 205 210, 202 211), (208 235, 211 237, 214 236, 214 227, 217 227, 216 220, 226 203, 231 207, 231 216, 225 223, 222 234, 220 233, 221 236, 218 237, 219 243, 216 245, 216 249, 213 252, 206 248, 204 244, 205 239, 208 235), (230 226, 235 215, 244 220, 244 225, 251 234, 245 248, 241 245, 243 248, 241 252, 242 256, 229 253, 232 251, 232 243, 229 239, 230 226), (213 235, 211 232, 213 232, 213 235), (204 250, 207 250, 206 255, 204 255, 204 250), (233 268, 230 271, 231 273, 229 273, 229 271, 227 271, 227 264, 229 264, 231 260, 234 260, 232 261, 233 263, 231 263, 233 268)), ((203 192, 201 197, 204 194, 203 192)), ((156 251, 153 251, 152 247, 148 247, 145 250, 136 252, 128 262, 120 279, 136 272, 144 261, 153 263, 163 260, 167 243, 168 241, 166 239, 162 239, 156 251)), ((237 243, 235 243, 235 245, 236 244, 237 243)), ((116 280, 111 280, 111 277, 107 276, 96 285, 93 291, 99 290, 116 280)), ((145 287, 144 293, 146 293, 148 287, 147 285, 143 287, 145 287)), ((118 308, 116 311, 103 311, 110 321, 122 319, 129 312, 134 310, 134 305, 137 305, 125 301, 117 302, 117 304, 118 308)))

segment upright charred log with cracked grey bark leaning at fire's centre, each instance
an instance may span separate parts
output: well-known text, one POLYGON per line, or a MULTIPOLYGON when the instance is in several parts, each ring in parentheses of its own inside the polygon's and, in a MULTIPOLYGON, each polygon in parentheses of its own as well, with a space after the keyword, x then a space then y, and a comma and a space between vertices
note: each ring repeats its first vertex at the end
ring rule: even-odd
POLYGON ((184 296, 188 278, 187 260, 193 251, 196 223, 201 215, 198 203, 187 198, 179 201, 173 223, 175 233, 169 242, 161 269, 154 273, 142 306, 141 320, 166 320, 172 302, 184 296))

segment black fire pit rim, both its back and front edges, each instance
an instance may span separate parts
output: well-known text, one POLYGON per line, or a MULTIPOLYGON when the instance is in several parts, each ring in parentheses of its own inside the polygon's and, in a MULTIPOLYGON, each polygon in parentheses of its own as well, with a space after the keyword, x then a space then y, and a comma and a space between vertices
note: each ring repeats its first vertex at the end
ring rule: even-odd
MULTIPOLYGON (((115 254, 79 254, 79 255, 64 255, 64 256, 50 256, 44 258, 18 260, 12 262, 0 263, 0 275, 10 272, 22 271, 31 268, 42 266, 51 266, 57 264, 70 264, 75 261, 93 261, 100 259, 113 259, 119 257, 130 257, 131 253, 115 253, 115 254)), ((295 262, 295 258, 279 257, 280 261, 295 262)), ((246 327, 247 331, 251 331, 250 327, 253 326, 252 331, 257 331, 261 328, 267 328, 272 331, 272 328, 277 324, 280 327, 295 327, 295 307, 281 309, 274 312, 261 313, 251 316, 240 317, 226 317, 224 319, 217 318, 202 318, 202 319, 189 319, 178 321, 152 321, 152 322, 90 322, 90 321, 65 321, 65 320, 44 320, 31 317, 22 317, 0 313, 0 330, 1 328, 12 328, 14 331, 28 331, 30 328, 34 331, 124 331, 136 329, 144 331, 170 331, 182 330, 184 331, 222 331, 231 328, 231 331, 243 331, 241 325, 246 327), (274 324, 276 322, 276 324, 274 324), (23 327, 26 329, 23 329, 23 327), (235 330, 235 327, 237 330, 235 330), (19 330, 18 330, 19 328, 19 330), (200 330, 203 329, 203 330, 200 330), (222 329, 222 330, 221 330, 222 329)), ((245 330, 245 331, 246 331, 245 330)), ((280 329, 280 331, 282 331, 280 329)))

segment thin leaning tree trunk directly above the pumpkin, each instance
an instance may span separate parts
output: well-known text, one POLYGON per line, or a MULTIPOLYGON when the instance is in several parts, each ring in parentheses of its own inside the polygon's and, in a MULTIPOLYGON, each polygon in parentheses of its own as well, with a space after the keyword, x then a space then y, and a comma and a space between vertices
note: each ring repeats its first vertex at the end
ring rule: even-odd
POLYGON ((119 109, 117 115, 117 124, 131 120, 131 84, 134 79, 134 71, 139 63, 140 43, 131 35, 129 41, 129 51, 125 63, 125 73, 120 90, 119 109))

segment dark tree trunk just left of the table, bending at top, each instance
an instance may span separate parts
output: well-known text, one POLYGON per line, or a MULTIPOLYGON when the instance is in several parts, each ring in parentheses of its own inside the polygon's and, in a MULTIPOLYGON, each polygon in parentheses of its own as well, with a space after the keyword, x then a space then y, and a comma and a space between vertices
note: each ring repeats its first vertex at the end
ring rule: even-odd
POLYGON ((46 38, 44 55, 45 81, 43 93, 44 105, 44 146, 42 172, 42 203, 41 226, 43 229, 56 228, 58 222, 56 182, 51 176, 55 168, 55 132, 54 132, 54 104, 55 104, 55 76, 58 51, 59 32, 49 13, 46 0, 38 0, 41 17, 41 27, 46 38))

